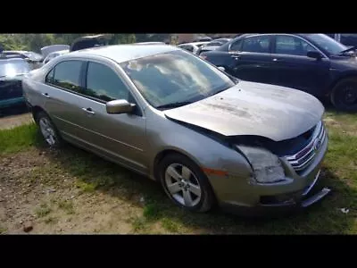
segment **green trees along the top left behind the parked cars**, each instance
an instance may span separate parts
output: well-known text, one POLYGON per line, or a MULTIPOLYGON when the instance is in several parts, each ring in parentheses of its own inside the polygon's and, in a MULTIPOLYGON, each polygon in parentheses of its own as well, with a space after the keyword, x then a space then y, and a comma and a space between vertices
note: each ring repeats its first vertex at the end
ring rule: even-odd
MULTIPOLYGON (((41 47, 54 44, 70 45, 76 39, 94 33, 76 34, 0 34, 0 46, 4 50, 29 50, 39 53, 41 47)), ((111 34, 110 45, 134 42, 166 42, 170 34, 111 34)))

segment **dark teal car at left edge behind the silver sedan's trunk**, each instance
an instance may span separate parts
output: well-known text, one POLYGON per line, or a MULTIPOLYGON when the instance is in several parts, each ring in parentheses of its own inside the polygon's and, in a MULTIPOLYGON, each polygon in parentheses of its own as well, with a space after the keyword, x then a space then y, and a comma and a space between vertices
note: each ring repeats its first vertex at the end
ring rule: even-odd
POLYGON ((21 81, 29 71, 24 59, 0 57, 0 109, 25 104, 21 81))

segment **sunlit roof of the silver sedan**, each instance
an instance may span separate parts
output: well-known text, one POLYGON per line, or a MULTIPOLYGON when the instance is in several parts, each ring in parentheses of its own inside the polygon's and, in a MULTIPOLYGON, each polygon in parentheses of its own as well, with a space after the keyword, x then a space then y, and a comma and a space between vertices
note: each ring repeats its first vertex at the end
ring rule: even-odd
POLYGON ((112 59, 117 63, 124 63, 138 58, 162 54, 174 50, 179 50, 178 47, 168 45, 143 45, 143 44, 129 44, 129 45, 112 45, 112 46, 97 46, 71 52, 62 55, 63 57, 82 57, 87 55, 101 56, 112 59))

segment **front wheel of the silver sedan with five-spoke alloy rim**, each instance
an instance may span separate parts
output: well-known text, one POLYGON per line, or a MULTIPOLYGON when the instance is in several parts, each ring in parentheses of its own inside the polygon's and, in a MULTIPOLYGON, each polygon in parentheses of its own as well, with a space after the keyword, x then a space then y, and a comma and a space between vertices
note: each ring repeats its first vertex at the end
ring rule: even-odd
POLYGON ((211 210, 214 195, 201 169, 184 155, 167 155, 159 165, 162 188, 180 207, 192 212, 211 210))

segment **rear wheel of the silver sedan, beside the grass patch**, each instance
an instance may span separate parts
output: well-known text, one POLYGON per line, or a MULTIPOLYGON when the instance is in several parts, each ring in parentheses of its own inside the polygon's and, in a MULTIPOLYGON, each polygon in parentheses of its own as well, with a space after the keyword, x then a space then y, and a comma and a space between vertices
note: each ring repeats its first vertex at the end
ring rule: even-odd
POLYGON ((62 146, 62 138, 54 123, 45 112, 38 112, 36 114, 36 122, 47 146, 53 148, 62 146))

